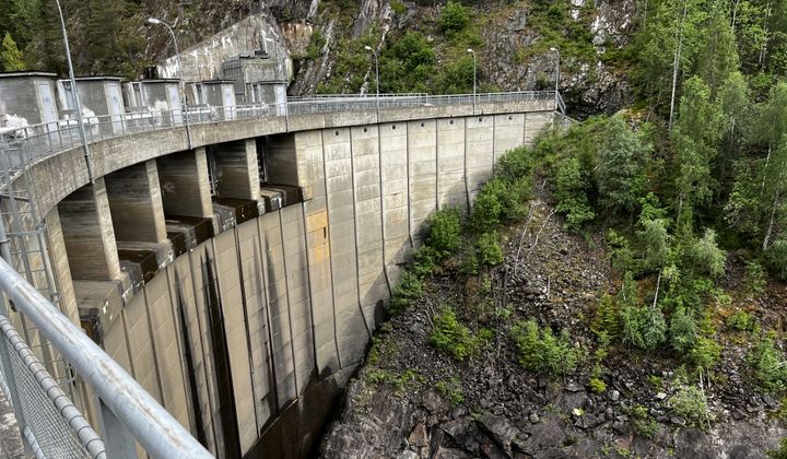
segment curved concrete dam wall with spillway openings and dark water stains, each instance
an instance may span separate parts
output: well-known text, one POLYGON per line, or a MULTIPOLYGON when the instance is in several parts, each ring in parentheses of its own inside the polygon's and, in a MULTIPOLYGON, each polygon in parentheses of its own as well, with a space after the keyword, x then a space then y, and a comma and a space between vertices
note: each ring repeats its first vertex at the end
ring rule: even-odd
MULTIPOLYGON (((45 223, 56 305, 210 452, 304 457, 430 214, 469 209, 554 121, 554 93, 519 94, 225 114, 105 136, 91 170, 74 145, 10 179, 45 223)), ((79 377, 72 393, 97 416, 79 377)))

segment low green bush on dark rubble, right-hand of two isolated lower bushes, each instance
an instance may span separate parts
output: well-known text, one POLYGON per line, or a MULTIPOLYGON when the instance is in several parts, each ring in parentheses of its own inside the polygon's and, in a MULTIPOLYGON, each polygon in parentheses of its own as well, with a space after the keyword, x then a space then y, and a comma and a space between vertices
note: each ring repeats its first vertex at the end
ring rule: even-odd
POLYGON ((543 330, 532 321, 512 327, 510 336, 519 350, 519 363, 531 372, 544 372, 550 375, 565 375, 576 368, 579 352, 571 344, 568 334, 552 334, 552 329, 543 330))

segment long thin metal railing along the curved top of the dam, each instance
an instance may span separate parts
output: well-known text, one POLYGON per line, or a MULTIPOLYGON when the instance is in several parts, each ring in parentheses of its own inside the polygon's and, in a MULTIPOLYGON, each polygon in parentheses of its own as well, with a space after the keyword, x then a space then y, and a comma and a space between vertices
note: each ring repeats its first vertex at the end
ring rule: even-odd
MULTIPOLYGON (((89 143, 119 138, 138 132, 171 129, 190 125, 240 119, 286 117, 301 114, 334 111, 376 110, 416 106, 480 105, 489 103, 512 103, 531 101, 557 101, 554 91, 527 91, 489 94, 428 95, 380 94, 355 95, 333 94, 289 97, 287 103, 254 104, 237 106, 189 106, 188 113, 175 110, 134 110, 121 115, 84 117, 89 143)), ((560 99, 562 102, 562 99, 560 99)), ((557 103, 557 102, 556 102, 557 103)), ((28 160, 36 161, 82 144, 79 123, 75 119, 61 119, 40 125, 0 128, 0 139, 7 143, 23 142, 30 152, 28 160)))

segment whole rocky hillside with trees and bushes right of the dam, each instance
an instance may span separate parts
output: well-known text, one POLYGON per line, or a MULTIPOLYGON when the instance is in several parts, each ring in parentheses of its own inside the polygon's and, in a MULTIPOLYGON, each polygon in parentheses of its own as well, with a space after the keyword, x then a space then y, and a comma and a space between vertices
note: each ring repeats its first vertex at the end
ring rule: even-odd
POLYGON ((649 3, 631 108, 434 214, 325 456, 787 455, 787 3, 739 8, 649 3))

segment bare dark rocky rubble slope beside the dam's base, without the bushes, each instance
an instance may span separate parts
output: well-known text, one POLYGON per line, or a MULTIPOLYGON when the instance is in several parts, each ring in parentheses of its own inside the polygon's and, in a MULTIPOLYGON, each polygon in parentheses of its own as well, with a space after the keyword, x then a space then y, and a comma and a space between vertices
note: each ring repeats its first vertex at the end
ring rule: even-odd
MULTIPOLYGON (((667 356, 611 349, 597 381, 589 352, 571 376, 525 369, 506 336, 518 317, 566 330, 590 350, 588 318, 614 281, 594 248, 599 242, 565 234, 541 201, 505 238, 505 262, 488 282, 462 280, 448 262, 416 304, 384 326, 324 439, 325 457, 762 458, 777 447, 786 433, 780 402, 745 379, 747 344, 735 338, 721 338, 725 357, 705 381, 701 419, 681 412, 680 369, 667 356), (446 302, 461 305, 472 330, 495 330, 475 357, 458 361, 430 343, 446 302)), ((779 303, 768 294, 760 301, 779 303)))

